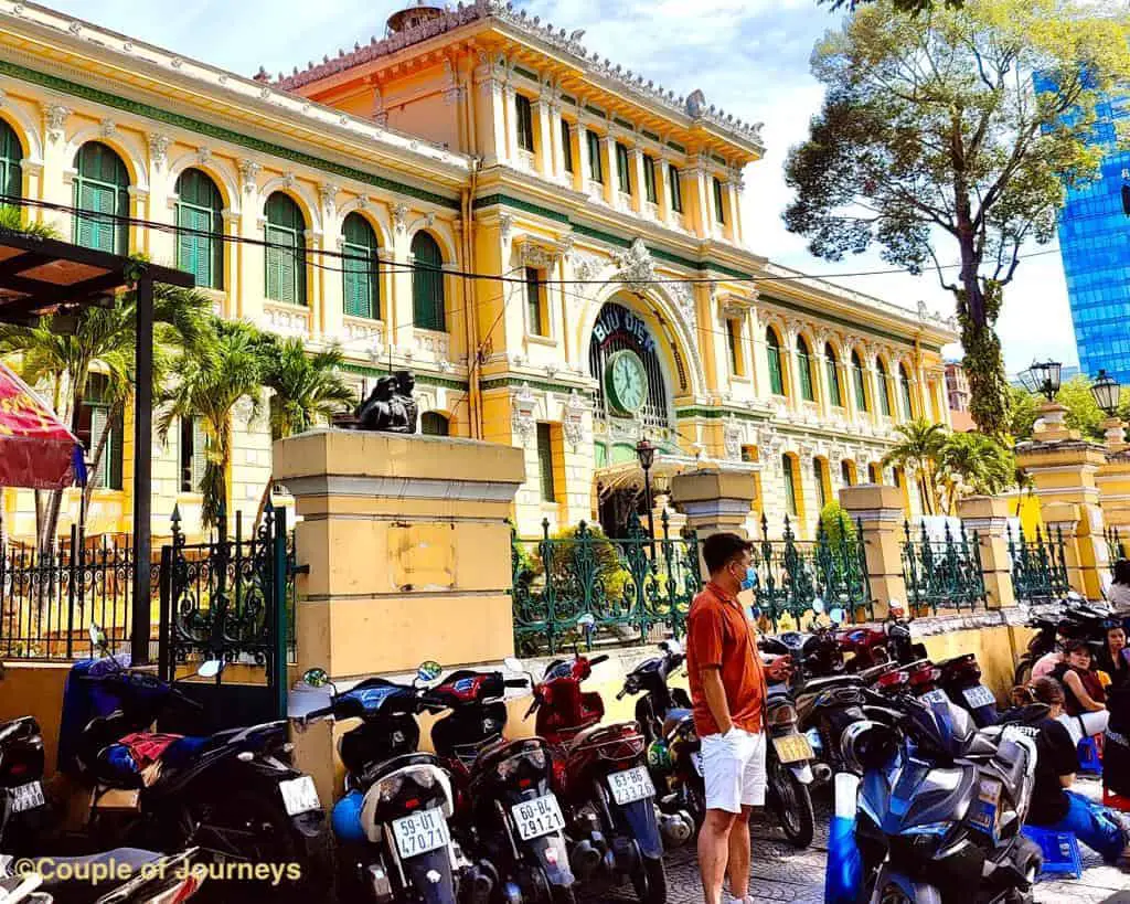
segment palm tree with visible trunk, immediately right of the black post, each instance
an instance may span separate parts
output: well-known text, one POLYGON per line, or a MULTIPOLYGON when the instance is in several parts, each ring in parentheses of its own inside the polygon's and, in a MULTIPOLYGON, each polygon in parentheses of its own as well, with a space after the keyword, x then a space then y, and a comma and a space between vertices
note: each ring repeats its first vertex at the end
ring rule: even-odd
POLYGON ((206 527, 219 521, 228 496, 232 466, 232 412, 243 399, 251 417, 262 410, 262 334, 249 323, 211 319, 212 336, 198 349, 177 356, 173 377, 159 395, 157 433, 164 440, 180 418, 199 417, 206 437, 200 492, 206 527))

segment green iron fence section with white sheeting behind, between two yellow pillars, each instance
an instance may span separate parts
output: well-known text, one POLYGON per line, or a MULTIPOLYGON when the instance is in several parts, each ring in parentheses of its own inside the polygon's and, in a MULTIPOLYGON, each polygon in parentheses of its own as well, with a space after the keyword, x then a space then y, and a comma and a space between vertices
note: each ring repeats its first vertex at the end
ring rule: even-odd
POLYGON ((922 524, 918 539, 910 522, 903 523, 903 579, 915 614, 939 609, 976 609, 985 605, 984 570, 977 532, 963 524, 957 537, 946 524, 946 536, 931 540, 922 524))

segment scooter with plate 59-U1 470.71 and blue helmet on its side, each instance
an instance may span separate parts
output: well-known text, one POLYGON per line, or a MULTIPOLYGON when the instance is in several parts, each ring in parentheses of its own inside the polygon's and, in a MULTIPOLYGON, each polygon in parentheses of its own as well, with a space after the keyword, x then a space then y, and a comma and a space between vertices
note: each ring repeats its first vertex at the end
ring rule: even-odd
POLYGON ((452 838, 451 779, 434 755, 417 750, 417 714, 442 709, 424 698, 419 685, 438 676, 440 666, 426 662, 411 685, 366 678, 340 693, 322 669, 303 676, 311 687, 329 687, 331 697, 301 724, 360 720, 338 746, 346 794, 332 814, 339 890, 347 899, 455 904, 462 893, 462 901, 485 904, 493 892, 490 870, 469 863, 452 838))

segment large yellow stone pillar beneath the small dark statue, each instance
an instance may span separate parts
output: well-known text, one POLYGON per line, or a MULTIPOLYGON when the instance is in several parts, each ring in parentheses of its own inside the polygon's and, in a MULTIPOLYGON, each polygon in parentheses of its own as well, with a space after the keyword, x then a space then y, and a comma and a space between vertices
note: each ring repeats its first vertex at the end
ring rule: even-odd
POLYGON ((511 506, 522 450, 314 431, 275 443, 295 498, 299 672, 340 678, 513 652, 511 506), (426 626, 426 628, 424 627, 426 626))

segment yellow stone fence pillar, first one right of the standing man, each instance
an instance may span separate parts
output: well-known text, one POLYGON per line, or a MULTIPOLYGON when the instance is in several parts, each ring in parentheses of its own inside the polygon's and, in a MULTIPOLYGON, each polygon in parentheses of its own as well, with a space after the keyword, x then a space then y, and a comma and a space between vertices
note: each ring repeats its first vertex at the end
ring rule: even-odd
POLYGON ((844 487, 840 490, 840 504, 852 522, 862 528, 875 617, 884 619, 890 600, 907 602, 903 577, 905 515, 902 490, 877 484, 844 487))

